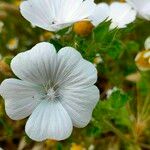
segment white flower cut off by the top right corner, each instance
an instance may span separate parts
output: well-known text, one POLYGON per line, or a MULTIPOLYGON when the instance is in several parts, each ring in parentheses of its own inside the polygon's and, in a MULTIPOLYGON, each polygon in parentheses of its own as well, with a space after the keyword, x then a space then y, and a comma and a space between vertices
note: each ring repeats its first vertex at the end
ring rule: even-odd
POLYGON ((150 0, 126 0, 137 12, 138 16, 150 20, 150 0))

